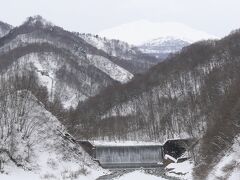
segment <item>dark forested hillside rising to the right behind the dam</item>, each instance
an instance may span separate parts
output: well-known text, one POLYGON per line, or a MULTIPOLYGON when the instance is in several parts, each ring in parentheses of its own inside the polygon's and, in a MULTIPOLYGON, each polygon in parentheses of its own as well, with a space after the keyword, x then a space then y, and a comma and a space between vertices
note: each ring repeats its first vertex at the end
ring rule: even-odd
POLYGON ((79 137, 200 140, 196 176, 239 133, 240 31, 197 42, 124 85, 80 103, 70 129, 79 137))

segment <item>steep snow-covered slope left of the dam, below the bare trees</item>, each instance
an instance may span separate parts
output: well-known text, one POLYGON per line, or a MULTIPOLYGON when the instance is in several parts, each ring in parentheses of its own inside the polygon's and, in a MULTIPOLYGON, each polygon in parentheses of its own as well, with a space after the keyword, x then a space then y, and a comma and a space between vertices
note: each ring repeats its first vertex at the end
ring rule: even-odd
MULTIPOLYGON (((39 179, 81 179, 94 180, 108 171, 100 168, 84 152, 80 145, 65 136, 61 123, 49 113, 34 96, 30 96, 26 107, 29 112, 26 118, 35 123, 33 134, 26 140, 21 134, 16 139, 16 156, 21 157, 25 169, 16 167, 10 160, 3 166, 0 179, 6 180, 39 180, 39 179), (30 157, 26 158, 28 149, 25 144, 31 143, 30 157)), ((0 142, 0 148, 7 148, 0 142)), ((2 157, 0 157, 2 158, 2 157)), ((4 159, 8 159, 4 157, 4 159)))

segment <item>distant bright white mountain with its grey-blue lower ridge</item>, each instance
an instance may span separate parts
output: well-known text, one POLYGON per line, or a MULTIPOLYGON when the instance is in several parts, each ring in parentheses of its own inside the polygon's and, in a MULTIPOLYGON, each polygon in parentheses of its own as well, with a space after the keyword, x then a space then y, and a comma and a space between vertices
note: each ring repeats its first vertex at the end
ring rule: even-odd
POLYGON ((200 40, 216 36, 175 22, 135 21, 99 32, 102 37, 119 39, 137 46, 143 53, 164 59, 170 53, 200 40))

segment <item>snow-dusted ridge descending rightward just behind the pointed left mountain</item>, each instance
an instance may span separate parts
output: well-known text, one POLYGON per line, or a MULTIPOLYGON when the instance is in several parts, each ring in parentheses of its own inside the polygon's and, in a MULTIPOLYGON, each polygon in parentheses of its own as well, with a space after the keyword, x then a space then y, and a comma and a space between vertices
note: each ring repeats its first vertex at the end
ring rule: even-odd
POLYGON ((145 72, 162 60, 149 56, 148 53, 143 53, 138 47, 120 40, 107 39, 93 34, 78 35, 97 49, 117 58, 115 63, 133 74, 145 72))

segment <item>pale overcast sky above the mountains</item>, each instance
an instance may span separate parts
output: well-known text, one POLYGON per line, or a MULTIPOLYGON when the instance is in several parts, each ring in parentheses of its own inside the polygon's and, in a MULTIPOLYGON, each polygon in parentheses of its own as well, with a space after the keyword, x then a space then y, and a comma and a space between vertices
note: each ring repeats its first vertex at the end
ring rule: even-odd
POLYGON ((71 31, 97 33, 146 19, 181 22, 223 36, 240 28, 240 0, 0 0, 0 20, 20 25, 39 14, 71 31))

